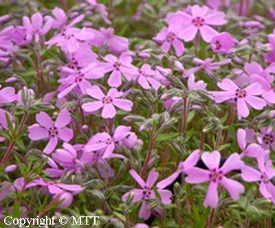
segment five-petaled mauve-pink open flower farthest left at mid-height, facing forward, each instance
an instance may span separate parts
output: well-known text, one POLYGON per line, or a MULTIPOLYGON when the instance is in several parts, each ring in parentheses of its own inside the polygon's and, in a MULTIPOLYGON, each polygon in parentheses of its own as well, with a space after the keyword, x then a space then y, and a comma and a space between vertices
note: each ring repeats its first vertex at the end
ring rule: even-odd
POLYGON ((63 109, 53 123, 47 113, 40 112, 36 114, 36 122, 28 128, 30 139, 39 141, 41 139, 49 139, 47 146, 43 152, 50 154, 56 148, 58 140, 68 142, 74 136, 73 131, 66 126, 71 122, 71 115, 67 109, 63 109))

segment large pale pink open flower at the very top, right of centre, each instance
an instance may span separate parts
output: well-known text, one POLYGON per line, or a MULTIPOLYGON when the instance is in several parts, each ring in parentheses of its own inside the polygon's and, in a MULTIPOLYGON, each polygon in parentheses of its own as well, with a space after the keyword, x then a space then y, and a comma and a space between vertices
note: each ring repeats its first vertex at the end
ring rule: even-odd
POLYGON ((209 25, 224 25, 226 23, 223 12, 211 12, 205 5, 193 5, 191 15, 186 12, 181 12, 181 14, 185 18, 184 25, 186 28, 179 34, 179 38, 186 42, 192 41, 199 32, 203 41, 210 43, 218 32, 209 25))

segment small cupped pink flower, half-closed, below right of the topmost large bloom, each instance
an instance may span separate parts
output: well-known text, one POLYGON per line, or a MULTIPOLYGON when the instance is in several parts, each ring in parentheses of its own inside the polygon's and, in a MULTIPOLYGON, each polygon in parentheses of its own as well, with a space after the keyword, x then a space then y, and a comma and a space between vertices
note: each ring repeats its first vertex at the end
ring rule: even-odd
POLYGON ((235 43, 235 39, 228 32, 222 32, 212 38, 211 49, 214 53, 228 54, 235 43))

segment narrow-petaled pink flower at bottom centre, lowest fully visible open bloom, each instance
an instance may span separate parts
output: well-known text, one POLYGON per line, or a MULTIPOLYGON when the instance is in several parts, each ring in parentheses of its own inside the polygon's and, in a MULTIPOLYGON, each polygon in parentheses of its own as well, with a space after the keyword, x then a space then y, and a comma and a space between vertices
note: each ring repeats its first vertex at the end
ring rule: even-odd
MULTIPOLYGON (((151 172, 148 174, 148 178, 146 183, 143 181, 143 179, 140 177, 135 170, 129 171, 133 179, 137 181, 137 183, 142 187, 141 189, 134 189, 130 192, 126 192, 122 196, 122 200, 126 201, 126 199, 129 197, 129 194, 133 193, 133 203, 137 201, 142 201, 142 207, 140 208, 140 212, 138 213, 139 218, 147 219, 151 215, 151 211, 147 209, 148 206, 148 199, 150 198, 156 198, 155 191, 152 190, 153 185, 155 184, 155 181, 157 181, 157 178, 159 177, 159 173, 155 172, 155 170, 151 170, 151 172)), ((159 193, 159 196, 161 198, 162 203, 169 204, 171 203, 170 197, 172 196, 172 193, 169 190, 162 190, 157 189, 157 192, 159 193)))

